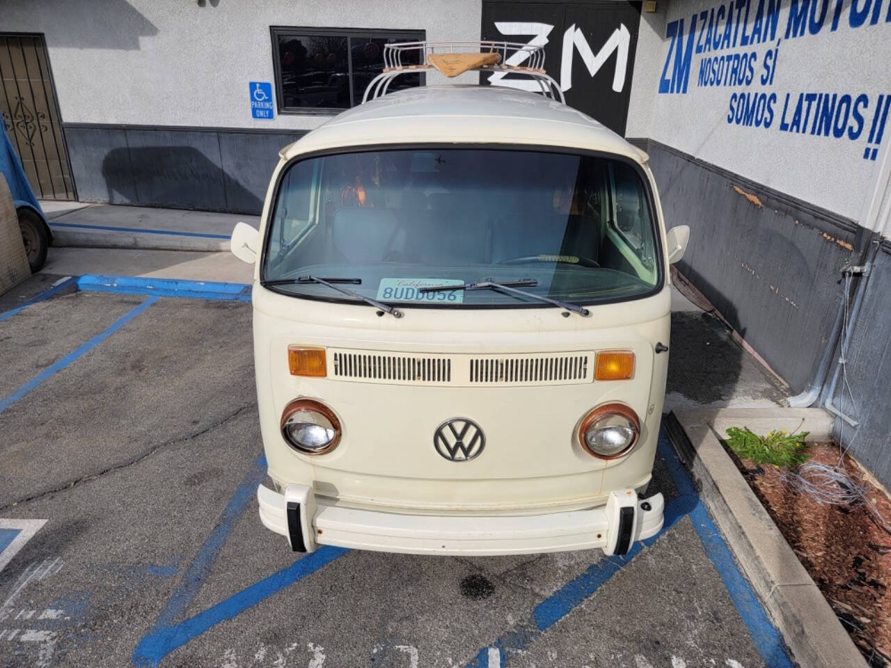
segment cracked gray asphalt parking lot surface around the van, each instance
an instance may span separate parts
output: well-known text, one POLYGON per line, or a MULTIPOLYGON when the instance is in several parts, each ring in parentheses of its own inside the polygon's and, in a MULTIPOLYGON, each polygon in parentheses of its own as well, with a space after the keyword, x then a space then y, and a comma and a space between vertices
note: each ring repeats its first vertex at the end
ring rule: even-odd
MULTIPOLYGON (((69 291, 0 321, 0 400, 146 298, 69 291)), ((250 493, 252 364, 249 304, 160 298, 0 411, 0 518, 46 520, 0 571, 0 667, 767 665, 684 513, 626 561, 344 551, 279 586, 302 560, 250 493)), ((671 465, 650 490, 676 501, 671 465)))

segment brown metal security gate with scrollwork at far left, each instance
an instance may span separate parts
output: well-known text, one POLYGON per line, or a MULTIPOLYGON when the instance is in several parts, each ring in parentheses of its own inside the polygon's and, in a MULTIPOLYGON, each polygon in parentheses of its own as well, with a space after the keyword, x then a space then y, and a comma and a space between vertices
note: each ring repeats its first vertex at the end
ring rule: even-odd
POLYGON ((43 36, 0 34, 0 85, 0 114, 37 197, 74 200, 43 36))

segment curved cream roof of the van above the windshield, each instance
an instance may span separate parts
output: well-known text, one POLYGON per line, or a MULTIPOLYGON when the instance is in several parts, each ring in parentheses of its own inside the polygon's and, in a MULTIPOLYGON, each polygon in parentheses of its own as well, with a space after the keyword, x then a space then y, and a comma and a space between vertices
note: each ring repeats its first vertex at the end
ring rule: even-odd
POLYGON ((639 163, 647 154, 566 104, 506 86, 419 86, 344 111, 282 158, 347 146, 506 143, 616 153, 639 163))

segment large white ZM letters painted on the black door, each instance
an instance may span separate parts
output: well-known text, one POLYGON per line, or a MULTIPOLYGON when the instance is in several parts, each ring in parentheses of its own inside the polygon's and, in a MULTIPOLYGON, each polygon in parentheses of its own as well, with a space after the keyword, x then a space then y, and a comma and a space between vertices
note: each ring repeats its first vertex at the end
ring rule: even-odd
MULTIPOLYGON (((527 42, 529 46, 541 46, 548 44, 548 37, 554 27, 549 23, 529 23, 527 21, 495 21, 495 29, 502 35, 529 35, 533 34, 531 40, 527 42)), ((604 63, 609 59, 613 52, 616 52, 616 70, 613 74, 612 89, 616 93, 621 93, 625 87, 625 72, 628 69, 628 49, 631 45, 631 33, 625 28, 625 24, 619 24, 619 27, 613 30, 606 43, 601 46, 600 51, 594 53, 588 40, 585 39, 581 28, 577 28, 573 23, 563 33, 563 53, 560 59, 560 90, 566 93, 572 88, 572 56, 575 49, 578 50, 582 57, 584 66, 588 69, 588 74, 593 77, 603 67, 604 63)), ((528 58, 528 53, 518 51, 513 53, 507 59, 507 65, 522 65, 523 61, 528 58)), ((525 91, 539 91, 541 85, 537 81, 530 79, 505 79, 502 81, 506 72, 495 72, 489 77, 490 84, 501 82, 502 86, 511 86, 520 88, 525 91)))

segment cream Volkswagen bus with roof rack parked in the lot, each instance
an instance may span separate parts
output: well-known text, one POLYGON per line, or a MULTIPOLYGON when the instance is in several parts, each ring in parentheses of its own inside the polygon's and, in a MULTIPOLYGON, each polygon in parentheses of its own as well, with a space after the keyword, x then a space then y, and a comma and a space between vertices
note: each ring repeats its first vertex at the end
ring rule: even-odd
POLYGON ((233 232, 256 264, 260 519, 293 550, 621 554, 662 526, 641 494, 687 229, 537 51, 475 46, 471 69, 540 91, 389 92, 468 64, 391 45, 374 99, 283 149, 259 232, 233 232))

